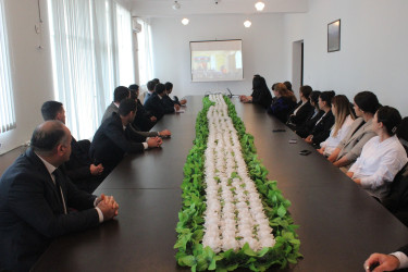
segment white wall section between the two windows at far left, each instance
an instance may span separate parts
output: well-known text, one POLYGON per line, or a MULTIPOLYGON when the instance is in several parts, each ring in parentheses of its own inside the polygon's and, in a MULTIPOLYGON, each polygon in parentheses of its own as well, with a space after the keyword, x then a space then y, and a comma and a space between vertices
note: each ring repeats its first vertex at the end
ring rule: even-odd
POLYGON ((37 49, 40 40, 34 30, 38 24, 37 1, 5 0, 4 3, 17 127, 0 134, 0 153, 29 140, 34 128, 42 121, 41 104, 53 99, 47 5, 45 0, 40 3, 44 20, 41 50, 37 49))

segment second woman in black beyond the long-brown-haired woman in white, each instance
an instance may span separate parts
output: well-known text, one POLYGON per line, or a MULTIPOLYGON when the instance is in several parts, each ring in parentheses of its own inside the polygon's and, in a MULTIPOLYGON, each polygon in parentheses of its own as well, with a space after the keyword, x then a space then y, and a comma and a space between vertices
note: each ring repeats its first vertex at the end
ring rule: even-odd
POLYGON ((323 116, 324 111, 319 109, 319 97, 322 94, 320 90, 313 90, 310 94, 309 101, 310 104, 313 107, 313 111, 310 112, 309 116, 302 124, 296 125, 293 127, 295 133, 302 138, 306 138, 310 135, 311 129, 313 129, 314 124, 323 116))

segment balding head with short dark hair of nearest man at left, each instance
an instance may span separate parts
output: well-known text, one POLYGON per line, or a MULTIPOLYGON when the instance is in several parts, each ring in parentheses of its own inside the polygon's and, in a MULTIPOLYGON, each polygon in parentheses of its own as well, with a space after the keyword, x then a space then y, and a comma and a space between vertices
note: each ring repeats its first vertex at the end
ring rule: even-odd
POLYGON ((64 124, 57 120, 47 121, 33 132, 30 147, 39 153, 51 152, 66 139, 64 124))

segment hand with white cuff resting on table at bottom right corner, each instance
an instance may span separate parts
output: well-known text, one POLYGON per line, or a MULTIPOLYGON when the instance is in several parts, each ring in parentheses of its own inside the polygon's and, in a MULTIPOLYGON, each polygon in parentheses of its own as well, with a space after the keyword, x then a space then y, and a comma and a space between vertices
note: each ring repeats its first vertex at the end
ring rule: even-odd
POLYGON ((364 261, 366 272, 383 272, 394 271, 398 269, 408 268, 408 245, 399 248, 396 252, 390 255, 372 254, 364 261), (371 270, 371 265, 379 264, 374 270, 371 270))

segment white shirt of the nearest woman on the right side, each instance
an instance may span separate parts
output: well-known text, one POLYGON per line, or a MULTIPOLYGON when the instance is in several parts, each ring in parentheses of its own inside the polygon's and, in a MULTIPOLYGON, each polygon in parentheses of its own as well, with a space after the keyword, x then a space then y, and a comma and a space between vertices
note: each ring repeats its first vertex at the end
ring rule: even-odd
POLYGON ((388 193, 395 175, 407 162, 407 153, 397 136, 383 141, 375 136, 367 141, 349 172, 354 173, 353 178, 360 178, 362 188, 370 195, 382 199, 388 193))

